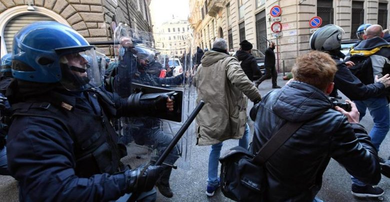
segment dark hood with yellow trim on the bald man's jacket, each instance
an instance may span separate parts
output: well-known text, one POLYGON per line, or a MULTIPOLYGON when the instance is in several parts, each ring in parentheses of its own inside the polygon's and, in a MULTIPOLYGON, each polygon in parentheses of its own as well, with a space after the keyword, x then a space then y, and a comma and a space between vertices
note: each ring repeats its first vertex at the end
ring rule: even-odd
POLYGON ((376 36, 370 39, 360 41, 360 43, 351 48, 350 54, 369 56, 379 51, 382 47, 390 47, 390 44, 383 38, 376 36))

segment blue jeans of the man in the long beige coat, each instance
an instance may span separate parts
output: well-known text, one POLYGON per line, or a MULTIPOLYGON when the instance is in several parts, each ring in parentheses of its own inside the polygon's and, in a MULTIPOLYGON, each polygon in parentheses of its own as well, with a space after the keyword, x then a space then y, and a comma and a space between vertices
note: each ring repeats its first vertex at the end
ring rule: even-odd
MULTIPOLYGON (((246 123, 244 134, 243 134, 242 138, 238 141, 238 145, 240 147, 247 149, 248 142, 249 142, 249 126, 246 123)), ((219 185, 218 163, 219 163, 219 156, 220 156, 221 148, 222 148, 221 142, 214 144, 214 145, 211 145, 210 155, 208 157, 208 174, 207 174, 207 176, 208 176, 207 184, 210 187, 216 187, 219 185)))

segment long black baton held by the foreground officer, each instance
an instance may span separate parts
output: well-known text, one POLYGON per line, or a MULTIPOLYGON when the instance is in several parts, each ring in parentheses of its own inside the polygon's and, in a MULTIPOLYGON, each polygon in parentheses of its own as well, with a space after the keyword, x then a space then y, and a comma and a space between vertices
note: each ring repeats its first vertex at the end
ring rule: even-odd
MULTIPOLYGON (((174 146, 178 143, 180 138, 183 136, 184 132, 188 129, 189 125, 191 125, 192 121, 195 119, 196 115, 199 113, 199 111, 202 109, 204 105, 204 101, 200 100, 200 102, 197 104, 196 108, 192 111, 192 113, 189 115, 188 119, 184 122, 184 124, 181 126, 181 128, 177 131, 176 135, 173 137, 172 141, 170 141, 168 147, 162 152, 161 156, 158 157, 157 161, 155 162, 155 166, 160 166, 166 159, 166 157, 169 155, 170 151, 173 149, 174 146)), ((147 169, 143 169, 142 172, 144 172, 147 169)), ((127 202, 135 202, 137 198, 139 197, 141 193, 132 193, 130 198, 127 200, 127 202)))

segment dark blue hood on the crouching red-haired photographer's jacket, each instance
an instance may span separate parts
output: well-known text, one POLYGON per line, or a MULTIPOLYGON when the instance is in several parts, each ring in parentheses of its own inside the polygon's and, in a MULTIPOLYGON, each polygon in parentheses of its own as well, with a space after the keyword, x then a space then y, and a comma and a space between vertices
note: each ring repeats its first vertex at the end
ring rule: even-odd
POLYGON ((331 108, 331 102, 325 93, 303 82, 293 81, 276 92, 272 110, 277 116, 290 122, 307 121, 331 108))

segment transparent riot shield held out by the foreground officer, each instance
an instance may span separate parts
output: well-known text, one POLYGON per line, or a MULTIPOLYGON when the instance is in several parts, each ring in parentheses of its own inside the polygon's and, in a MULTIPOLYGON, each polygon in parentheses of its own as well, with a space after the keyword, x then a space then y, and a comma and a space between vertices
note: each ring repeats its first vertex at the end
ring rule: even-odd
MULTIPOLYGON (((119 43, 114 51, 117 59, 114 91, 123 98, 139 92, 151 97, 169 93, 174 100, 173 112, 120 119, 120 135, 127 144, 128 158, 156 160, 195 107, 194 89, 190 85, 190 34, 180 34, 175 47, 160 40, 163 38, 168 35, 136 31, 123 25, 114 31, 114 41, 119 43)), ((194 123, 165 159, 165 165, 189 169, 193 132, 194 123)))

